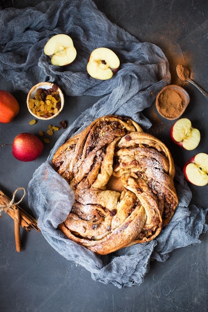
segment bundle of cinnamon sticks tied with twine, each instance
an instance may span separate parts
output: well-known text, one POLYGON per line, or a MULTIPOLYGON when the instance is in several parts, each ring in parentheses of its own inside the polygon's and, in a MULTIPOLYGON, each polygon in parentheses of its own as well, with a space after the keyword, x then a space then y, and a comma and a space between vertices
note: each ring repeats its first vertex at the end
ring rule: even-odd
POLYGON ((11 204, 11 199, 6 196, 0 190, 0 207, 5 213, 7 213, 14 220, 14 237, 16 251, 21 251, 21 240, 20 240, 20 226, 24 228, 27 232, 31 229, 40 231, 37 226, 37 221, 35 218, 30 216, 25 210, 19 207, 17 204, 11 204))

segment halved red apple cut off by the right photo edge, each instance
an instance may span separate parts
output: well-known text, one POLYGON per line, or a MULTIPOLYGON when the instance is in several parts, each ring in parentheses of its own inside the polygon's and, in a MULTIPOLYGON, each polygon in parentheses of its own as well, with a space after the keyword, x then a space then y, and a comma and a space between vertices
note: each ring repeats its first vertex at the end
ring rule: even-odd
POLYGON ((189 182, 198 186, 208 184, 208 154, 199 153, 185 163, 183 172, 189 182))

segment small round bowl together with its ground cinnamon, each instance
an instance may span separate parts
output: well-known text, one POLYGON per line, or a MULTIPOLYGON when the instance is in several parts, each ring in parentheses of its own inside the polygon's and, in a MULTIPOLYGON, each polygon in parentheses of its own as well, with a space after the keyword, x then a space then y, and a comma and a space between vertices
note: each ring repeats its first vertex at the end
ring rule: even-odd
POLYGON ((175 120, 185 112, 189 102, 190 96, 184 88, 168 85, 157 95, 156 108, 163 118, 175 120))

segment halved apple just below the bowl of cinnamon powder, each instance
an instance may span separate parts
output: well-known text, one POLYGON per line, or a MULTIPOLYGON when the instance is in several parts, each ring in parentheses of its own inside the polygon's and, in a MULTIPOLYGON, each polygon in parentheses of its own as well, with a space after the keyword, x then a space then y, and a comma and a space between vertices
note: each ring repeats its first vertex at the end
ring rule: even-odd
POLYGON ((185 150, 192 151, 198 147, 201 135, 188 118, 181 118, 171 128, 171 139, 185 150))

